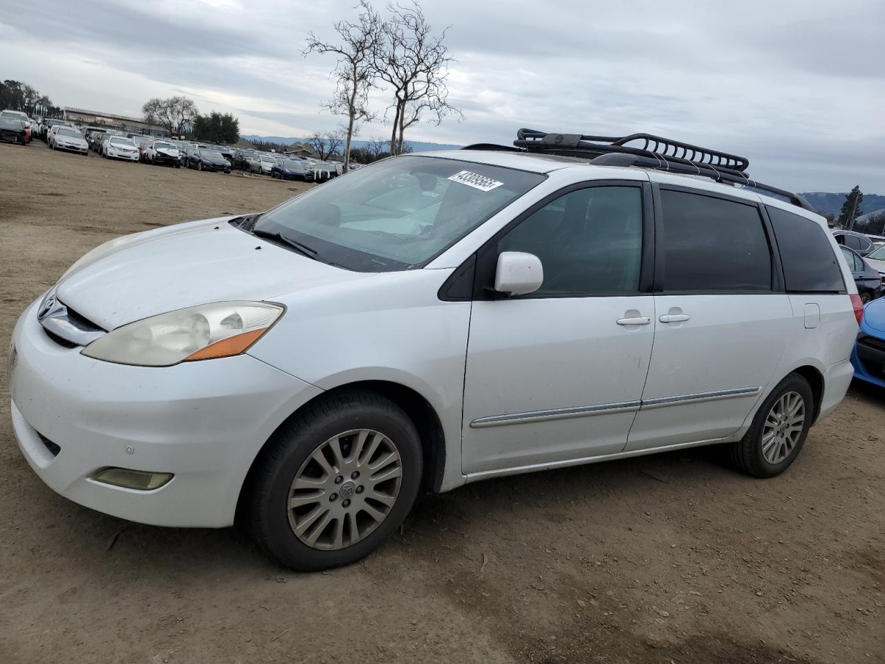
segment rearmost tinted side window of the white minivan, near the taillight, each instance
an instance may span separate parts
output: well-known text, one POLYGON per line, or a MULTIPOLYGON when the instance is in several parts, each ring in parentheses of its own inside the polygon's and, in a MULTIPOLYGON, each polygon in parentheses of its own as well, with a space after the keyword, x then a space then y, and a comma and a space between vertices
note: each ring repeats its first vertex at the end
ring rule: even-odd
POLYGON ((845 290, 842 271, 836 262, 827 233, 810 219, 768 207, 774 236, 781 251, 787 290, 793 292, 845 290))

